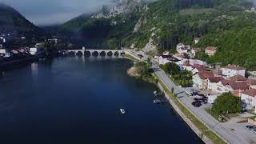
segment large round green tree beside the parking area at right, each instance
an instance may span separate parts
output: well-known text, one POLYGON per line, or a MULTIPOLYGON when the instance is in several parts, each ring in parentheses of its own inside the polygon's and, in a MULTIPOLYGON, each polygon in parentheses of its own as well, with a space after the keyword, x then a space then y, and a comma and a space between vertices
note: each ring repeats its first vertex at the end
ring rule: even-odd
POLYGON ((213 105, 213 112, 215 114, 239 113, 241 110, 240 98, 235 97, 230 92, 218 96, 213 105))

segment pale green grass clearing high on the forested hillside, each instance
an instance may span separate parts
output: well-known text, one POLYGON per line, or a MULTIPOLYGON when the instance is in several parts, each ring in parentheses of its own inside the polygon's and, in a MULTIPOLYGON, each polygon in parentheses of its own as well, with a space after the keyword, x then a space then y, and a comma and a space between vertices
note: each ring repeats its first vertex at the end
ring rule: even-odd
POLYGON ((206 9, 184 9, 184 10, 179 10, 180 15, 193 15, 193 14, 205 14, 205 13, 212 13, 216 11, 215 9, 211 8, 206 8, 206 9))

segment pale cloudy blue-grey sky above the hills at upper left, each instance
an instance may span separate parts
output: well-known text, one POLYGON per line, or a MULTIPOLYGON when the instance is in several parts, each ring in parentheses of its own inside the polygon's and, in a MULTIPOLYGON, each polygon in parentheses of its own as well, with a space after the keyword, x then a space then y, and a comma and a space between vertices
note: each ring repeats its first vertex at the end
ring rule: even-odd
POLYGON ((0 0, 37 26, 62 24, 83 13, 100 10, 111 0, 0 0))

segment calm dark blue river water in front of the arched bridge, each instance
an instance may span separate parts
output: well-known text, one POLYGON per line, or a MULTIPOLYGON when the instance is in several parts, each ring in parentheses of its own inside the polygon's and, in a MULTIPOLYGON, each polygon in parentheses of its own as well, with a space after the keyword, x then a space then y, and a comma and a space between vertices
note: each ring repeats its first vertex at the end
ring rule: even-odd
POLYGON ((202 143, 125 59, 55 58, 0 76, 1 143, 202 143), (119 109, 126 110, 121 115, 119 109))

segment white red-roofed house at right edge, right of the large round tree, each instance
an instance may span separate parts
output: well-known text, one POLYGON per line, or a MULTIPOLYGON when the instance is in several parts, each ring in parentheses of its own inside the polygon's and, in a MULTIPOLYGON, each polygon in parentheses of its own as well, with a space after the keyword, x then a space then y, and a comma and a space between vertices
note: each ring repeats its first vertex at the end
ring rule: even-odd
POLYGON ((242 103, 246 105, 247 110, 254 109, 256 111, 256 90, 255 89, 242 91, 241 100, 242 100, 242 103))

